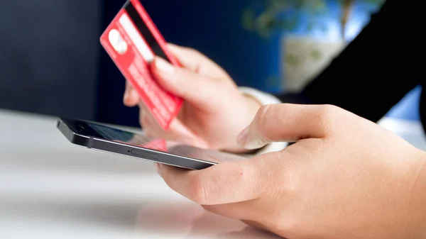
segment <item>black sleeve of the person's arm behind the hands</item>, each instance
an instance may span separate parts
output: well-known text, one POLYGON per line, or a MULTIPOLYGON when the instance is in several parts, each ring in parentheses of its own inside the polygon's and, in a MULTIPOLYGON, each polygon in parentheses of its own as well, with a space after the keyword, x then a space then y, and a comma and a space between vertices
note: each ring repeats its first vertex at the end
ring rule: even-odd
MULTIPOLYGON (((418 83, 407 53, 408 1, 388 0, 358 37, 298 94, 283 102, 332 104, 378 121, 418 83)), ((408 24, 409 25, 409 24, 408 24)), ((412 55, 412 54, 410 54, 412 55)), ((413 59, 413 58, 411 58, 413 59)))

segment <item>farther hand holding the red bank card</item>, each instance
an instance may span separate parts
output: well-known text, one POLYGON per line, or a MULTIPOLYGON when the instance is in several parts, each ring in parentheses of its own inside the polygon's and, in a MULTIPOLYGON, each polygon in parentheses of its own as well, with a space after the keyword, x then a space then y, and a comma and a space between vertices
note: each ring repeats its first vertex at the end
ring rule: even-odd
POLYGON ((178 118, 165 131, 139 104, 138 94, 126 87, 124 104, 139 104, 140 121, 148 135, 201 148, 239 152, 235 138, 261 105, 239 92, 222 68, 196 50, 168 45, 183 66, 174 67, 156 57, 152 72, 159 84, 185 99, 178 118))

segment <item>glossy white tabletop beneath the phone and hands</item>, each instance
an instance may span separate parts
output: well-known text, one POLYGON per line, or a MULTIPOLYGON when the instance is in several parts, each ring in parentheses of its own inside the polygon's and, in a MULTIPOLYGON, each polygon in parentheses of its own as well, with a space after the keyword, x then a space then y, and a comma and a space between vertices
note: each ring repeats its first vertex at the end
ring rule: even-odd
MULTIPOLYGON (((278 238, 203 211, 150 162, 70 144, 55 122, 0 111, 0 238, 278 238)), ((426 149, 405 124, 383 121, 426 149)))

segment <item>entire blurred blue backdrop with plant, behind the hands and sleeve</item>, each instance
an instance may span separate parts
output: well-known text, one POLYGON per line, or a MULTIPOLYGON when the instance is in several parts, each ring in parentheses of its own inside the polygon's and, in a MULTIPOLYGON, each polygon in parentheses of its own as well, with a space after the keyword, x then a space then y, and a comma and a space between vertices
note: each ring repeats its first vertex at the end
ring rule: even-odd
MULTIPOLYGON (((99 44, 124 0, 0 1, 0 108, 138 126, 99 44)), ((200 50, 241 86, 297 91, 383 0, 141 0, 166 40, 200 50)), ((383 86, 385 88, 386 86, 383 86)), ((418 121, 420 88, 388 116, 418 121)))

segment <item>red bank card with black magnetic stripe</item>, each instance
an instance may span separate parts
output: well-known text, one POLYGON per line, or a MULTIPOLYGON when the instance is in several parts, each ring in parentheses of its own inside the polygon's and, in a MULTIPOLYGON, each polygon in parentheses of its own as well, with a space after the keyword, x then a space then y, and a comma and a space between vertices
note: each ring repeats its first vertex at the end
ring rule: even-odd
POLYGON ((165 130, 178 116, 182 99, 160 87, 149 64, 154 55, 173 65, 178 60, 139 0, 128 0, 101 36, 101 44, 146 108, 165 130))

